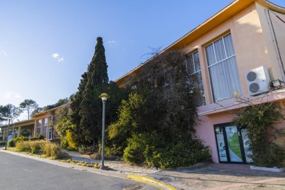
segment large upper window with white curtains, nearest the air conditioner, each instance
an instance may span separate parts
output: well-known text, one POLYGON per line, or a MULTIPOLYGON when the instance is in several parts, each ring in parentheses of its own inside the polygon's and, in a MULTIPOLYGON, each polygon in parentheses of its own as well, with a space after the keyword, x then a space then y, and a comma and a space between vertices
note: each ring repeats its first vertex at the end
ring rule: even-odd
POLYGON ((231 34, 214 41, 205 50, 214 101, 233 98, 235 92, 242 94, 231 34))

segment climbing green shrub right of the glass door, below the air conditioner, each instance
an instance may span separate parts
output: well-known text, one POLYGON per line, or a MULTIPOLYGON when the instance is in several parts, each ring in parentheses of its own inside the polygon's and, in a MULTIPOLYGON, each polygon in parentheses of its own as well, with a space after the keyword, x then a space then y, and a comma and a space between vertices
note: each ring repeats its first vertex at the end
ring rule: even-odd
POLYGON ((285 151, 271 142, 273 125, 283 118, 279 107, 272 103, 249 105, 240 110, 233 123, 246 127, 251 139, 250 149, 255 165, 260 167, 280 167, 284 164, 285 151))

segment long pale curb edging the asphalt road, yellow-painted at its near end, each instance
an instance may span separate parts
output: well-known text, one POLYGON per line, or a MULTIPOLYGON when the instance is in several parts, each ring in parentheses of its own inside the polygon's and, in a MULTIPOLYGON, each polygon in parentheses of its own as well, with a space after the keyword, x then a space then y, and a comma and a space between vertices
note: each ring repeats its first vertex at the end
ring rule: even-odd
POLYGON ((40 157, 36 157, 36 156, 31 156, 28 154, 21 154, 18 152, 8 151, 8 150, 3 150, 3 149, 0 149, 0 152, 5 152, 8 154, 14 154, 16 156, 22 156, 24 158, 30 158, 33 160, 38 160, 41 162, 46 162, 46 163, 49 163, 52 165, 58 165, 61 167, 68 167, 68 168, 78 169, 81 171, 88 171, 88 172, 96 173, 96 174, 103 175, 103 176, 110 176, 110 177, 115 177, 115 178, 124 178, 124 179, 129 179, 129 180, 136 180, 136 181, 143 182, 146 184, 151 184, 151 183, 152 184, 158 184, 158 185, 160 185, 166 189, 171 189, 171 190, 174 189, 175 190, 175 188, 171 187, 169 184, 166 184, 164 182, 160 182, 159 180, 155 180, 154 178, 149 178, 148 176, 136 176, 136 175, 126 174, 126 173, 118 173, 115 171, 107 171, 107 170, 96 169, 96 168, 92 168, 92 167, 73 165, 73 164, 61 162, 58 160, 50 160, 47 158, 40 158, 40 157))

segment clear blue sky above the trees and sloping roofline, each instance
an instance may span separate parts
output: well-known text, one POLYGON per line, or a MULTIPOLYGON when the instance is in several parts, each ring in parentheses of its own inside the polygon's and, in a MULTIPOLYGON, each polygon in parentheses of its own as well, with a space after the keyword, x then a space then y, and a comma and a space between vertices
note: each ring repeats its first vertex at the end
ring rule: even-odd
POLYGON ((144 62, 149 47, 167 47, 231 1, 0 0, 0 105, 29 98, 43 107, 69 97, 97 36, 114 81, 144 62))

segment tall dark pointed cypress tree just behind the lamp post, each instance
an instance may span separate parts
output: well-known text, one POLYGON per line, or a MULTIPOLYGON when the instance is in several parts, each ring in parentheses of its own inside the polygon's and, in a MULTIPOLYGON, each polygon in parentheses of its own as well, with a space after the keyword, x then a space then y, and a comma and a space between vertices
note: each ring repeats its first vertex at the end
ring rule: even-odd
POLYGON ((102 102, 98 96, 107 90, 108 81, 103 39, 98 37, 94 56, 87 70, 87 83, 78 112, 82 134, 87 142, 93 142, 94 149, 102 131, 102 102))

